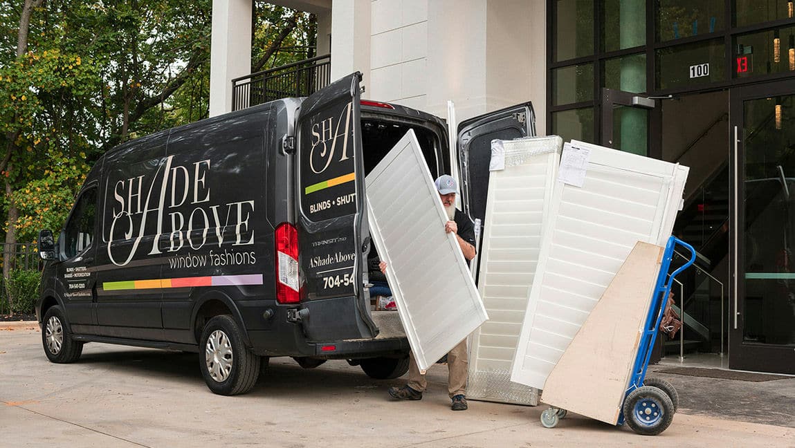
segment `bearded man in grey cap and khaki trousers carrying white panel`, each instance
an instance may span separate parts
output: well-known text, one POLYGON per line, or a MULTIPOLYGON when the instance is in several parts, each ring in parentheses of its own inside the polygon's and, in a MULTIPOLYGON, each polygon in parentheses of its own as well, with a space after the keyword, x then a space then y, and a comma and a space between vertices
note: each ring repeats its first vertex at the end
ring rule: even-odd
MULTIPOLYGON (((456 192, 458 186, 451 176, 443 175, 436 179, 436 190, 448 215, 444 223, 444 231, 455 234, 458 245, 467 263, 475 258, 475 226, 463 211, 456 209, 456 192)), ((381 262, 381 272, 386 270, 386 263, 381 262)), ((448 362, 448 393, 452 400, 453 411, 467 409, 467 340, 459 342, 447 355, 448 362)), ((414 353, 409 354, 409 382, 405 386, 390 388, 390 396, 397 400, 422 400, 422 392, 428 386, 425 375, 417 367, 414 353)))

